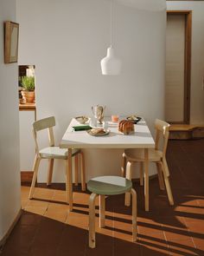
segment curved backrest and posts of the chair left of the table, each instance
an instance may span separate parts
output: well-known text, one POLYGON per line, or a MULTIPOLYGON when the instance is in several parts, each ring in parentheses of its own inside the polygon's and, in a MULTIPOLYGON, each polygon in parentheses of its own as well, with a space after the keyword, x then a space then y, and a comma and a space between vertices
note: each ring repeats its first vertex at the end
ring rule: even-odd
POLYGON ((53 147, 54 146, 54 132, 53 132, 53 127, 54 126, 55 126, 54 116, 35 121, 33 123, 33 134, 34 134, 34 139, 35 139, 35 150, 36 150, 37 154, 39 153, 39 148, 38 148, 38 143, 37 143, 36 132, 48 128, 49 146, 53 147))

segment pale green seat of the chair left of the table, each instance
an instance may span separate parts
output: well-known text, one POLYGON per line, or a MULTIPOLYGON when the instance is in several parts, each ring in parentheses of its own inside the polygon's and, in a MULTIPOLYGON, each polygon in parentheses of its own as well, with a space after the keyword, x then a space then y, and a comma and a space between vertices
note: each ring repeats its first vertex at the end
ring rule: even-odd
MULTIPOLYGON (((80 152, 80 149, 72 149, 72 155, 75 155, 80 152)), ((42 148, 39 151, 41 158, 50 158, 50 159, 67 159, 68 150, 67 148, 59 147, 48 147, 42 148)))

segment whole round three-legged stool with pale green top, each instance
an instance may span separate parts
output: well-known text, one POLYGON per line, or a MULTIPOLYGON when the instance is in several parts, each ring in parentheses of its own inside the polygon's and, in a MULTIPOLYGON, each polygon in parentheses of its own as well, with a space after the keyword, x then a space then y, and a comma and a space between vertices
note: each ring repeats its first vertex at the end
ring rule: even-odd
POLYGON ((92 192, 89 199, 89 247, 95 248, 95 200, 99 195, 99 227, 105 227, 105 195, 132 195, 132 240, 137 240, 137 194, 132 188, 132 182, 118 176, 96 177, 87 183, 87 189, 92 192))

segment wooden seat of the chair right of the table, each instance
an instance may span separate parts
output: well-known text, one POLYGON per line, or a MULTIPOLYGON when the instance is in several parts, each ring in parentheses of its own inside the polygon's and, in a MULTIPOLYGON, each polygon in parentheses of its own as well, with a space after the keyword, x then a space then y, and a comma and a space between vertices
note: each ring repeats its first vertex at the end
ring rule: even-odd
MULTIPOLYGON (((124 156, 128 161, 144 161, 143 149, 125 149, 124 156)), ((162 161, 163 152, 154 148, 149 149, 149 161, 162 161)))

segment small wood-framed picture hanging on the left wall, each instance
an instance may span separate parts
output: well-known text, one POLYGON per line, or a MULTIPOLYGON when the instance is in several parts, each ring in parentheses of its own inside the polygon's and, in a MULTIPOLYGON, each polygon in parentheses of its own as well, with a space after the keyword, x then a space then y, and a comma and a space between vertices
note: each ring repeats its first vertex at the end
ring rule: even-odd
POLYGON ((4 62, 17 62, 19 24, 4 23, 4 62))

